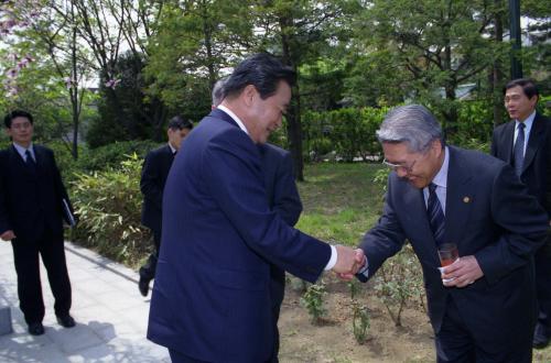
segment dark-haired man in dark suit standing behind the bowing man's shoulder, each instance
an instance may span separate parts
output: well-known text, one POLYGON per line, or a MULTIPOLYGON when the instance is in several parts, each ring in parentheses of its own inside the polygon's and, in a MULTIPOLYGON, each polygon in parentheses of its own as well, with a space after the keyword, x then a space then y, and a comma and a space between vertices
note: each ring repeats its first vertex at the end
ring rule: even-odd
MULTIPOLYGON (((515 79, 505 86, 505 107, 510 122, 497 127, 491 155, 515 167, 520 180, 548 212, 551 220, 551 120, 536 111, 538 88, 531 79, 515 79)), ((551 339, 551 239, 536 252, 538 323, 533 346, 551 339)))

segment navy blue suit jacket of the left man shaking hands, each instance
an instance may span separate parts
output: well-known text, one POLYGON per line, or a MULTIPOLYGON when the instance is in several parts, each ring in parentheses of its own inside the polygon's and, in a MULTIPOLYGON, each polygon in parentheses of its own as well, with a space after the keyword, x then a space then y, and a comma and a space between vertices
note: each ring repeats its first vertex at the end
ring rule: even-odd
POLYGON ((186 138, 165 191, 148 338, 202 361, 267 361, 270 264, 314 282, 329 245, 270 210, 258 147, 222 110, 186 138))

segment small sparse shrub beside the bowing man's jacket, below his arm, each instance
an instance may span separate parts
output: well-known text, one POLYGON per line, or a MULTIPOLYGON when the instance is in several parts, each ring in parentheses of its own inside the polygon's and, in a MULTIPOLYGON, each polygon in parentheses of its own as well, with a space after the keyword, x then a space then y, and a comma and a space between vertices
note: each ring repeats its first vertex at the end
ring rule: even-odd
POLYGON ((388 258, 374 278, 377 297, 397 327, 402 324, 401 315, 408 301, 419 299, 424 308, 422 270, 409 243, 388 258))

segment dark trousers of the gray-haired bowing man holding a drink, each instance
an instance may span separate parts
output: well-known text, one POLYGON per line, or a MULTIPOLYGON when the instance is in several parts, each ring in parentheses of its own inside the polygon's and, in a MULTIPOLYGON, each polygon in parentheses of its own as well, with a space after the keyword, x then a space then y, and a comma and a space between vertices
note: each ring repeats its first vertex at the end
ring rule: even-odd
MULTIPOLYGON (((488 327, 490 328, 490 327, 488 327)), ((530 363, 532 361, 532 337, 523 332, 469 330, 451 297, 440 332, 436 333, 436 362, 454 363, 530 363), (509 336, 507 336, 509 334, 509 336), (508 339, 517 334, 518 339, 508 339), (499 336, 499 337, 498 337, 499 336), (506 337, 506 338, 504 338, 506 337)))

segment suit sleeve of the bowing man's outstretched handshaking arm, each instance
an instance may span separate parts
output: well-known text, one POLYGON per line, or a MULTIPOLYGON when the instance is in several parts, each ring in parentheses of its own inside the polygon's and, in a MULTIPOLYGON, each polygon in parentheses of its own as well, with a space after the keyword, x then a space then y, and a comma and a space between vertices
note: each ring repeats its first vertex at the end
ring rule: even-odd
MULTIPOLYGON (((391 177, 389 177, 387 190, 382 216, 379 218, 377 226, 366 233, 359 244, 359 248, 364 250, 367 257, 369 268, 368 278, 372 277, 387 258, 400 252, 406 242, 406 233, 398 221, 392 202, 391 177)), ((364 280, 363 278, 360 279, 364 280)))

